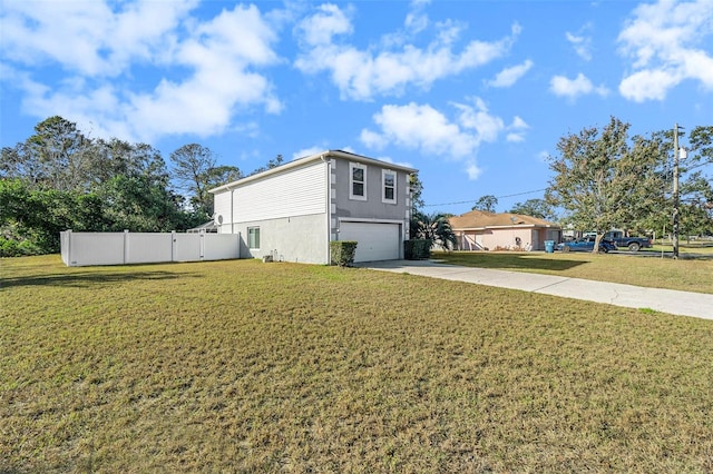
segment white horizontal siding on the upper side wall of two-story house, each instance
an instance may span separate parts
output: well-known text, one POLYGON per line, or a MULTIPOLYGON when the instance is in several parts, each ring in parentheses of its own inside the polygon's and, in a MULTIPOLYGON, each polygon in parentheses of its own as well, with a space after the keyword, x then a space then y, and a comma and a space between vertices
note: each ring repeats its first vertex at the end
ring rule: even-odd
POLYGON ((234 221, 256 221, 326 213, 328 186, 324 166, 324 162, 318 161, 284 175, 273 175, 236 188, 234 221))

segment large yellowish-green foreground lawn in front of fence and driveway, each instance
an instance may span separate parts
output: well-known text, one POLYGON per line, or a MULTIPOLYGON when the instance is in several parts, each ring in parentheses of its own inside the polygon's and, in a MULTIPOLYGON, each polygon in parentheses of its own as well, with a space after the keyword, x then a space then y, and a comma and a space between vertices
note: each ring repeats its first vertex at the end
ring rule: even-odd
POLYGON ((0 472, 713 471, 711 320, 355 268, 0 264, 0 472))

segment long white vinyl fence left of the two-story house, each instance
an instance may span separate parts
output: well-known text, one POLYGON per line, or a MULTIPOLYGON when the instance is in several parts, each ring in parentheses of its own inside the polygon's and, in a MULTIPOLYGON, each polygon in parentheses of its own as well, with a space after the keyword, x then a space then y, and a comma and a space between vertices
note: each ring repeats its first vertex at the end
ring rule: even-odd
POLYGON ((240 258, 240 234, 60 233, 68 267, 240 258))

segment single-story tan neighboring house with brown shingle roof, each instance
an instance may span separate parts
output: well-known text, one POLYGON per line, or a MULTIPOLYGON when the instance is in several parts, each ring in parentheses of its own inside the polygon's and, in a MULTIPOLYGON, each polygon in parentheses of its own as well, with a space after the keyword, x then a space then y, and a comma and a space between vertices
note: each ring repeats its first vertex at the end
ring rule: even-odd
POLYGON ((460 250, 544 250, 545 240, 560 240, 558 225, 519 214, 471 210, 448 219, 460 250))

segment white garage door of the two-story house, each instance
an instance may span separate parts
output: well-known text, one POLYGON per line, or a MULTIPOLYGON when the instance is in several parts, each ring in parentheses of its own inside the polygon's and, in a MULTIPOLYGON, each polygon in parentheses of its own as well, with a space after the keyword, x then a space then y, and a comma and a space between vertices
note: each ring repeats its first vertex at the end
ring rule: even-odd
POLYGON ((398 224, 341 223, 340 240, 356 240, 354 261, 397 260, 401 254, 398 224))

